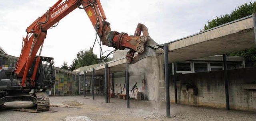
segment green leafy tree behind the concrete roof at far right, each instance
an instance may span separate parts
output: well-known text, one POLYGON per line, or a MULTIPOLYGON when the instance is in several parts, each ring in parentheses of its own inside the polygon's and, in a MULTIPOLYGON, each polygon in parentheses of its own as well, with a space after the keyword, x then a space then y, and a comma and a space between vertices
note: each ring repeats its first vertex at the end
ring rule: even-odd
MULTIPOLYGON (((207 29, 211 29, 218 25, 222 25, 228 23, 230 21, 238 20, 240 18, 250 16, 256 12, 256 2, 250 2, 249 4, 245 3, 244 5, 238 6, 231 14, 225 14, 220 17, 216 17, 212 21, 208 21, 208 25, 204 25, 204 29, 200 31, 204 31, 207 29)), ((256 66, 256 49, 248 49, 243 51, 237 51, 228 53, 227 55, 232 56, 242 56, 246 62, 246 66, 256 66)))

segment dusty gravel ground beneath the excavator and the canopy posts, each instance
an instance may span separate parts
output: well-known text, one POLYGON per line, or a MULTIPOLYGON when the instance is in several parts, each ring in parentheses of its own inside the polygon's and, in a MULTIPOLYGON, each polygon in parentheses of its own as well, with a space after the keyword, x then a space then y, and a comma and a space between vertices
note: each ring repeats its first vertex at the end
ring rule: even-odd
MULTIPOLYGON (((171 117, 166 118, 166 103, 111 98, 104 96, 52 96, 51 105, 81 108, 50 107, 58 112, 28 113, 0 109, 0 121, 256 121, 256 112, 233 111, 209 107, 171 104, 171 117)), ((5 103, 7 108, 32 108, 30 102, 5 103)))

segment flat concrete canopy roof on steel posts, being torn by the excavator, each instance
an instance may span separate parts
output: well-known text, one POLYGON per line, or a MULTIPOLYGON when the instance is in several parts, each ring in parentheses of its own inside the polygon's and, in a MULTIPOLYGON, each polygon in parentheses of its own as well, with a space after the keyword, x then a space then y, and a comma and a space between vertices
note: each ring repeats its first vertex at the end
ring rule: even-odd
MULTIPOLYGON (((255 15, 247 16, 188 37, 168 43, 169 62, 187 61, 213 55, 222 55, 256 47, 255 15)), ((126 70, 126 58, 108 62, 110 73, 126 70)), ((94 74, 104 75, 105 65, 94 67, 94 74)), ((84 72, 80 72, 83 75, 84 72)), ((86 70, 92 75, 92 68, 86 70)))

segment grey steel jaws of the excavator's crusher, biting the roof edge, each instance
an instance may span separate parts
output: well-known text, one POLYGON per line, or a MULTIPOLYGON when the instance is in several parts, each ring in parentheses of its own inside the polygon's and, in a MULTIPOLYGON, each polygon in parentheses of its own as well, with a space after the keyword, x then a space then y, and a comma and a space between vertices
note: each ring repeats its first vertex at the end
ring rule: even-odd
POLYGON ((156 49, 159 48, 158 43, 156 43, 148 33, 148 28, 138 23, 134 36, 140 36, 141 32, 144 36, 146 36, 146 42, 144 43, 144 51, 142 53, 138 53, 136 57, 134 57, 136 51, 130 49, 130 51, 126 54, 126 63, 127 64, 134 64, 141 59, 146 57, 155 57, 156 56, 156 49))

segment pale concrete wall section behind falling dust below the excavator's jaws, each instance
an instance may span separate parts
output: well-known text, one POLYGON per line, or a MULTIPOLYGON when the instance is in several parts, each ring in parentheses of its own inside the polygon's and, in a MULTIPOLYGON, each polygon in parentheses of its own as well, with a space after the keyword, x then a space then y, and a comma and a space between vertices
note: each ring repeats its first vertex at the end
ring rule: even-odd
POLYGON ((147 100, 164 101, 164 88, 160 88, 164 84, 163 59, 162 54, 129 65, 129 76, 144 75, 147 100))

